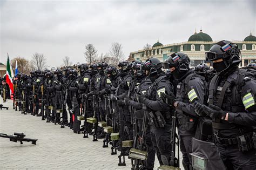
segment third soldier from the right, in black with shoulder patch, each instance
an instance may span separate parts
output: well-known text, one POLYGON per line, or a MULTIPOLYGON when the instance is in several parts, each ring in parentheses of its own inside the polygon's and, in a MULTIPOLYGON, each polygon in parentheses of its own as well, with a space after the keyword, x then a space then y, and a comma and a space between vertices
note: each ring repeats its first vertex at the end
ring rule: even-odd
POLYGON ((156 148, 159 164, 169 165, 172 150, 170 138, 173 109, 160 98, 160 93, 172 93, 173 85, 169 77, 161 70, 163 66, 159 59, 147 59, 145 65, 152 85, 147 91, 147 97, 137 94, 137 100, 146 105, 149 110, 146 114, 150 120, 151 139, 156 148))

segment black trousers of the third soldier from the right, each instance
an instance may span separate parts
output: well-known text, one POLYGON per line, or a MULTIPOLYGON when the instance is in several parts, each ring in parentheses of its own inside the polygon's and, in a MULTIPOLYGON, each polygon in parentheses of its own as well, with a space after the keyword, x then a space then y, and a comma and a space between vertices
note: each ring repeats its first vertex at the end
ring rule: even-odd
POLYGON ((166 125, 163 128, 156 128, 153 125, 150 126, 150 133, 152 144, 156 149, 157 159, 160 165, 168 165, 171 158, 171 128, 172 124, 166 121, 166 125))

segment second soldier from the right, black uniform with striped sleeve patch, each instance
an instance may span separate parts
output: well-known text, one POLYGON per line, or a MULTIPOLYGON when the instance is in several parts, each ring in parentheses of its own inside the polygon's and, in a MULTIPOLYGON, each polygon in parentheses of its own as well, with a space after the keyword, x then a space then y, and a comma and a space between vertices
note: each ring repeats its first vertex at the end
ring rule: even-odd
MULTIPOLYGON (((183 52, 173 53, 165 62, 164 69, 170 69, 174 78, 178 79, 176 96, 171 93, 163 97, 176 107, 178 118, 178 134, 180 151, 183 153, 183 166, 191 167, 192 140, 197 128, 197 113, 194 111, 195 101, 207 104, 207 83, 204 77, 194 73, 189 67, 190 58, 183 52)), ((192 168, 192 167, 191 167, 192 168)))

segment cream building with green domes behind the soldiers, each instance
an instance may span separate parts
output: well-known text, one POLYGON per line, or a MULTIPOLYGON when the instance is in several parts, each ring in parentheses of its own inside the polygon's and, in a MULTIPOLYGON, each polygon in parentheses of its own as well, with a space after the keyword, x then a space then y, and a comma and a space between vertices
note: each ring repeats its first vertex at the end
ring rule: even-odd
MULTIPOLYGON (((182 51, 190 57, 191 66, 196 66, 200 63, 205 63, 205 52, 209 51, 217 42, 213 41, 207 33, 200 30, 198 33, 194 32, 187 42, 163 45, 157 41, 152 47, 131 52, 130 59, 144 62, 147 58, 156 57, 163 62, 173 52, 182 51)), ((232 40, 232 42, 238 44, 241 50, 242 66, 246 66, 248 63, 256 63, 256 37, 252 33, 242 41, 232 40)))

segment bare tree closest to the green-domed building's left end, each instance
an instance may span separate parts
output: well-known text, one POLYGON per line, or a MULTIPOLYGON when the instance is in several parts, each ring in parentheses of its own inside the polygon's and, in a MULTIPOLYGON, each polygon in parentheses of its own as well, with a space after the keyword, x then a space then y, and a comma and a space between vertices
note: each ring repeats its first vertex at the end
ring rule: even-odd
POLYGON ((120 43, 112 43, 110 48, 110 57, 114 58, 114 65, 118 65, 120 60, 124 59, 124 53, 122 51, 123 47, 120 43))

